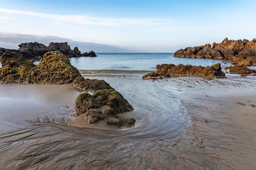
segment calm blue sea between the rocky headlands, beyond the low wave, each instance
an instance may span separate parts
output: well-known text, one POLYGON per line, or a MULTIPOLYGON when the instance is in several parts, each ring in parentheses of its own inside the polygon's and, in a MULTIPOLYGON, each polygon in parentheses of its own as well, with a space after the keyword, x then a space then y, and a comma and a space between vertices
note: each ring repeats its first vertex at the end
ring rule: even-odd
MULTIPOLYGON (((97 53, 98 57, 69 58, 78 70, 156 70, 157 64, 191 64, 230 66, 231 60, 191 59, 173 57, 174 53, 97 53), (224 64, 227 63, 227 64, 224 64)), ((38 64, 40 59, 34 59, 38 64)), ((0 67, 2 67, 0 65, 0 67)))

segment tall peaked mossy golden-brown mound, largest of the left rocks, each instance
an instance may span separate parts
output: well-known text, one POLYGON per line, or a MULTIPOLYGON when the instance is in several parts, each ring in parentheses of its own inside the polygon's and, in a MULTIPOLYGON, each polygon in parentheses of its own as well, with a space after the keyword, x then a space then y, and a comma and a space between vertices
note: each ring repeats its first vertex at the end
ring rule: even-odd
POLYGON ((39 64, 29 70, 27 82, 34 84, 69 84, 78 76, 80 76, 79 71, 71 65, 65 55, 59 51, 52 51, 46 53, 39 64))

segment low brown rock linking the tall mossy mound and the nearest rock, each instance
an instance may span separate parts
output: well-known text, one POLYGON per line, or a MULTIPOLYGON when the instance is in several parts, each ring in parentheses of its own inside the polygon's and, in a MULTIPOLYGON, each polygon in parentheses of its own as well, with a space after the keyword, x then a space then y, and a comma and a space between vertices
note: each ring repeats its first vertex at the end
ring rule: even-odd
POLYGON ((78 76, 72 83, 75 87, 87 91, 98 91, 98 90, 108 90, 114 89, 104 80, 97 79, 84 79, 83 76, 78 76))

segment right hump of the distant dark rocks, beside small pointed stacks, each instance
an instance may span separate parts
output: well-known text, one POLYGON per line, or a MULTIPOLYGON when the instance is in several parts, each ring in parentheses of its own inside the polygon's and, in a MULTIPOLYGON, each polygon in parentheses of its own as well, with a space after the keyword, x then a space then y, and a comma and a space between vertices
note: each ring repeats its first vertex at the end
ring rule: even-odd
POLYGON ((48 47, 52 51, 60 51, 62 54, 64 54, 66 57, 80 57, 77 54, 74 53, 73 50, 71 50, 70 46, 67 42, 65 43, 53 43, 51 42, 48 47))

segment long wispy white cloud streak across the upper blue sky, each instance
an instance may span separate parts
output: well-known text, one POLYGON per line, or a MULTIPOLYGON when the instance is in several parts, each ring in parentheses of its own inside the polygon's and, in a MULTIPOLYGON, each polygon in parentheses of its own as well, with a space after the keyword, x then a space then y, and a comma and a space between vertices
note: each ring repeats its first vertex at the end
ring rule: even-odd
POLYGON ((112 27, 148 27, 156 25, 168 25, 177 22, 175 19, 170 18, 100 18, 90 15, 56 15, 45 14, 32 11, 3 9, 0 8, 0 12, 9 14, 29 15, 40 18, 48 18, 58 22, 70 22, 87 25, 101 25, 112 27))

